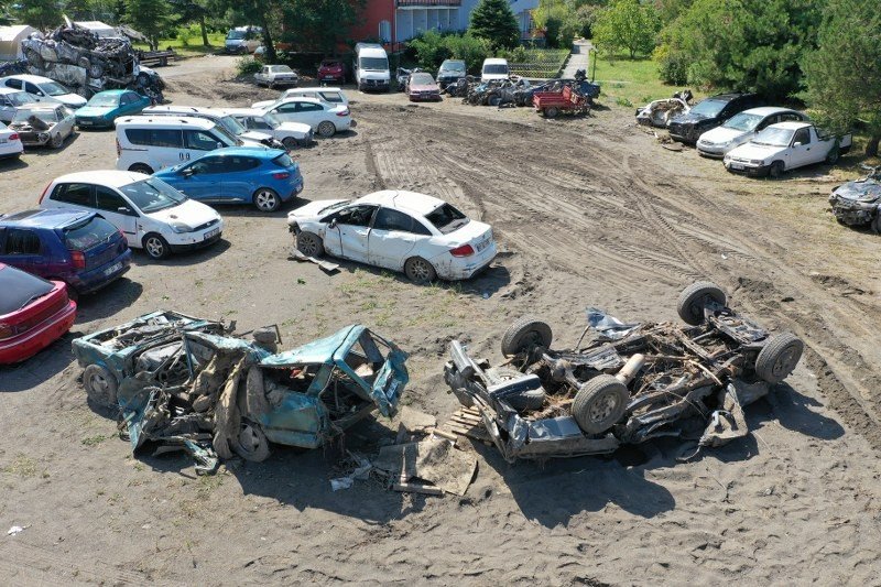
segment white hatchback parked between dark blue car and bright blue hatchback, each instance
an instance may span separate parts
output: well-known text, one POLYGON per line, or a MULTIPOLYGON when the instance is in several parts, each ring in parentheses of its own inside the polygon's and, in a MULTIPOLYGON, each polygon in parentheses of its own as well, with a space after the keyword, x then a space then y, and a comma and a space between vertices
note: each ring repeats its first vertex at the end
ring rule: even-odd
POLYGON ((130 171, 87 171, 63 175, 40 197, 41 208, 97 211, 116 226, 129 247, 153 259, 220 240, 224 219, 162 180, 130 171))

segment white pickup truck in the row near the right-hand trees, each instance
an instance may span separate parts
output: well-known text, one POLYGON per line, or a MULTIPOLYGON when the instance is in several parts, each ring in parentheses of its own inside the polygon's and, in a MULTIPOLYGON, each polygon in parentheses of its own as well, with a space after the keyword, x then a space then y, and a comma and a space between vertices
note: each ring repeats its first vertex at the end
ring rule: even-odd
POLYGON ((851 145, 851 135, 817 131, 809 122, 771 124, 750 142, 729 151, 725 169, 732 173, 780 177, 784 172, 814 163, 835 163, 851 145))

